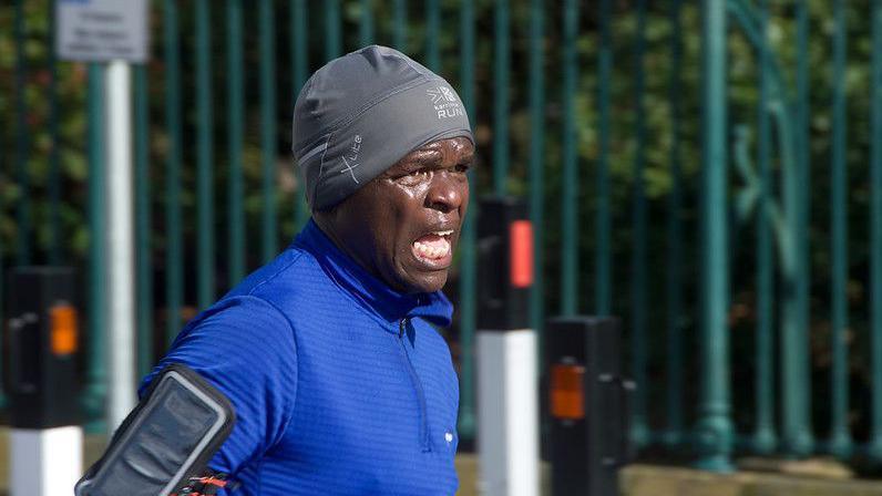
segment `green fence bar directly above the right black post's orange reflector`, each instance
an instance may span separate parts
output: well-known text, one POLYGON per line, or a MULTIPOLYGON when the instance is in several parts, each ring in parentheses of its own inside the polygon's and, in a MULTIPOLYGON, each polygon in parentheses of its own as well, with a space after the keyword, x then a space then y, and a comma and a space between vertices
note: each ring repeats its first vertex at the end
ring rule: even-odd
POLYGON ((578 81, 578 2, 566 0, 563 8, 563 175, 561 200, 561 314, 576 313, 578 301, 578 172, 576 157, 575 91, 578 81))

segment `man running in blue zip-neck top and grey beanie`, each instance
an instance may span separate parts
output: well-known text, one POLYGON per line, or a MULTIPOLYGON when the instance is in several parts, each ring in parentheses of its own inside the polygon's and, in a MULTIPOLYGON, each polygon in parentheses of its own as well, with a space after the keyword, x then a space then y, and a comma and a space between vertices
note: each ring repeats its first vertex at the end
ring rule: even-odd
POLYGON ((455 493, 458 381, 432 326, 450 324, 473 151, 457 93, 400 52, 368 46, 307 81, 294 153, 312 219, 156 368, 186 364, 232 401, 209 467, 235 494, 455 493))

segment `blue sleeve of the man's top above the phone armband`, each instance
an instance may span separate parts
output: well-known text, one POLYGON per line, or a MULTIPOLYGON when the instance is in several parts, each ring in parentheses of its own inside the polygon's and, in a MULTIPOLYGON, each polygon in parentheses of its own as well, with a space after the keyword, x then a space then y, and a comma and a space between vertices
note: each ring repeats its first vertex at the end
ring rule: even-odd
POLYGON ((184 328, 141 391, 170 363, 198 372, 236 410, 213 469, 235 478, 281 438, 294 412, 297 349, 294 329, 276 307, 252 296, 216 304, 184 328))

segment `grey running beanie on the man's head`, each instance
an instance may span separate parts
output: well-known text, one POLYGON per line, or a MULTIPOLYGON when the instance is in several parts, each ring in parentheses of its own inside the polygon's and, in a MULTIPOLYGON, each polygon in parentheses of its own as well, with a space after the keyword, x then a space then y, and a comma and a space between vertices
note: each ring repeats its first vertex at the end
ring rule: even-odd
POLYGON ((314 211, 342 202, 413 149, 455 136, 474 143, 457 92, 387 46, 328 62, 294 106, 291 148, 314 211))

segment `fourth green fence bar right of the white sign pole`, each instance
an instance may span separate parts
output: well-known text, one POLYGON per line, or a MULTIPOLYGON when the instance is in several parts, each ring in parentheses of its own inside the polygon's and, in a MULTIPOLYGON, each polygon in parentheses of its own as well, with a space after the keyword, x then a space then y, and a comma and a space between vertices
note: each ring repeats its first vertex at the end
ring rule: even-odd
POLYGON ((245 277, 245 210, 242 172, 244 141, 244 81, 242 53, 242 0, 227 0, 227 154, 229 183, 227 221, 229 224, 229 280, 236 285, 245 277))

